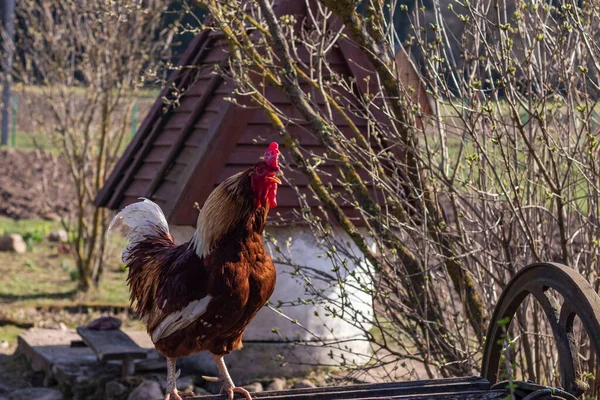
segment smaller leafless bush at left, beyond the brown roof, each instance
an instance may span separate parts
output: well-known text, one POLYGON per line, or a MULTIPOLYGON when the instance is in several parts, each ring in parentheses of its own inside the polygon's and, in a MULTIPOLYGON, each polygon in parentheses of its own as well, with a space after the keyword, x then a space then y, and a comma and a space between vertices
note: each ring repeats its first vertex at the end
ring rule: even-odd
POLYGON ((164 1, 17 3, 15 73, 37 85, 31 118, 60 149, 75 187, 75 215, 67 221, 79 271, 88 290, 102 275, 107 210, 92 205, 129 132, 136 90, 169 54, 172 30, 161 27, 164 1), (47 110, 51 110, 48 115, 47 110))

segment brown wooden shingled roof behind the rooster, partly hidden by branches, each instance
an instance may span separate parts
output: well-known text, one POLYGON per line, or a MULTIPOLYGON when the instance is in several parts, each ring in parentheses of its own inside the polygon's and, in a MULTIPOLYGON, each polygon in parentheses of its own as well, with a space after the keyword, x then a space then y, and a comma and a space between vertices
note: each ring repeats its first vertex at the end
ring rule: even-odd
MULTIPOLYGON (((302 21, 306 3, 280 0, 274 10, 278 15, 293 14, 297 21, 302 21)), ((198 213, 195 202, 202 206, 216 185, 254 165, 264 152, 265 143, 281 142, 262 109, 243 108, 226 100, 233 97, 233 85, 215 73, 214 67, 224 65, 228 56, 229 47, 224 36, 208 30, 196 36, 180 61, 182 68, 172 73, 169 83, 98 193, 97 205, 117 210, 146 197, 160 205, 171 225, 192 226, 198 213), (181 95, 173 96, 174 92, 181 95)), ((308 58, 307 52, 304 56, 308 58)), ((340 75, 356 78, 359 91, 367 90, 364 78, 373 67, 356 44, 349 39, 340 40, 329 53, 329 62, 340 75)), ((402 79, 417 89, 415 100, 429 112, 425 90, 403 49, 397 55, 397 62, 402 79)), ((265 92, 278 108, 298 118, 298 123, 290 124, 288 129, 299 139, 307 157, 311 152, 323 154, 319 141, 306 129, 285 93, 272 87, 266 87, 265 92)), ((348 131, 341 116, 337 117, 340 129, 348 131)), ((354 122, 359 128, 366 129, 366 120, 355 118, 354 122)), ((283 155, 291 160, 285 149, 283 155)), ((300 191, 307 193, 309 204, 315 206, 316 200, 309 194, 306 177, 294 172, 293 164, 290 167, 292 170, 285 171, 286 176, 294 179, 300 191)), ((333 165, 326 164, 320 171, 325 181, 338 186, 333 165)), ((339 186, 338 189, 341 190, 339 186)), ((271 212, 271 220, 291 220, 293 210, 298 208, 294 189, 282 185, 278 203, 271 212)), ((347 204, 341 206, 349 208, 347 204)))

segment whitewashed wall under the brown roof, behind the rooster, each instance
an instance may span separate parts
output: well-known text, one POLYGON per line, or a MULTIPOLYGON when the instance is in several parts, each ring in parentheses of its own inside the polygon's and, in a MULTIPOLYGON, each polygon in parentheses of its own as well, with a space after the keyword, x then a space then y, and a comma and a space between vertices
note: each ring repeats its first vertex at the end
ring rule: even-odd
MULTIPOLYGON (((194 230, 191 227, 172 227, 171 233, 175 237, 178 243, 189 240, 194 230)), ((268 227, 267 232, 272 235, 276 240, 277 244, 281 249, 291 256, 291 259, 299 264, 316 271, 323 272, 328 275, 335 276, 335 273, 331 271, 333 264, 326 257, 325 250, 320 248, 317 241, 313 237, 312 232, 306 227, 294 227, 294 228, 281 228, 281 227, 268 227), (291 237, 291 246, 286 247, 286 241, 291 237)), ((349 241, 347 236, 341 231, 335 231, 334 234, 338 238, 344 238, 345 242, 349 241)), ((277 252, 274 250, 273 245, 265 240, 265 247, 273 259, 279 257, 277 252)), ((352 247, 354 248, 354 247, 352 247)), ((356 251, 356 254, 360 252, 356 251)), ((273 306, 278 304, 278 301, 289 302, 294 301, 295 306, 283 307, 282 311, 291 320, 297 320, 299 324, 291 322, 288 318, 284 318, 278 313, 264 308, 256 315, 254 320, 248 326, 244 334, 244 346, 245 351, 252 352, 252 342, 261 342, 259 352, 268 354, 270 358, 275 358, 277 354, 285 354, 285 361, 291 363, 308 363, 308 364, 335 364, 339 362, 341 358, 339 355, 345 353, 346 358, 350 357, 356 362, 360 362, 360 357, 353 355, 354 353, 369 354, 370 346, 365 341, 363 330, 369 330, 371 328, 370 320, 373 315, 372 299, 371 297, 358 290, 347 290, 348 298, 352 302, 352 307, 359 309, 362 312, 364 323, 362 329, 357 329, 352 325, 345 322, 342 318, 333 318, 327 316, 328 313, 324 304, 312 304, 314 295, 311 294, 308 285, 306 284, 304 277, 300 275, 292 276, 294 268, 288 265, 276 264, 277 268, 277 285, 275 286, 275 292, 271 296, 270 302, 273 306), (298 302, 298 299, 303 299, 308 304, 302 304, 298 302), (315 313, 318 316, 315 316, 315 313), (306 329, 302 329, 299 325, 302 325, 306 329), (279 334, 273 333, 272 329, 277 328, 279 334), (300 338, 302 340, 311 341, 315 346, 291 346, 289 341, 286 341, 285 337, 289 339, 300 338), (318 338, 318 340, 317 340, 318 338), (350 339, 350 340, 348 340, 350 339), (355 339, 355 340, 352 340, 355 339), (330 357, 331 347, 320 346, 322 341, 327 343, 335 343, 343 341, 342 348, 350 350, 350 352, 344 352, 342 350, 334 351, 334 360, 330 357), (265 348, 265 342, 268 343, 269 350, 265 348), (278 350, 279 349, 279 350, 278 350)), ((355 265, 349 265, 349 269, 355 269, 355 265)), ((363 282, 366 280, 366 265, 362 265, 357 270, 357 277, 363 282)), ((313 273, 315 275, 315 273, 313 273)), ((316 274, 318 275, 318 274, 316 274)), ((350 286, 349 283, 355 282, 356 277, 342 276, 342 279, 346 278, 346 287, 350 286)), ((340 288, 336 281, 319 280, 313 277, 311 279, 312 285, 322 290, 322 295, 329 299, 339 299, 340 288)), ((314 298, 318 301, 318 298, 314 298)), ((338 309, 341 314, 342 309, 338 309)), ((354 319, 355 316, 345 314, 344 319, 354 319)), ((333 346, 340 347, 340 346, 333 346)), ((231 355, 228 358, 235 358, 237 362, 240 359, 247 357, 241 357, 239 355, 231 355)), ((268 370, 268 366, 267 367, 268 370)), ((262 368, 261 368, 262 369, 262 368)), ((243 368, 240 373, 243 374, 243 368)), ((294 372, 297 372, 297 367, 294 367, 294 372)), ((245 377, 247 378, 247 377, 245 377)))

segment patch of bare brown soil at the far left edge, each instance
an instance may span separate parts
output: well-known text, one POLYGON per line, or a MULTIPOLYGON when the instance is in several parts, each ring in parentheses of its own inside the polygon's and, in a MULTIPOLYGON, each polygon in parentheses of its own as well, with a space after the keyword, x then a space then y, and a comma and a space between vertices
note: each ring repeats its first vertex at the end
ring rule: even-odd
POLYGON ((55 220, 73 199, 67 166, 53 154, 0 149, 0 215, 55 220))

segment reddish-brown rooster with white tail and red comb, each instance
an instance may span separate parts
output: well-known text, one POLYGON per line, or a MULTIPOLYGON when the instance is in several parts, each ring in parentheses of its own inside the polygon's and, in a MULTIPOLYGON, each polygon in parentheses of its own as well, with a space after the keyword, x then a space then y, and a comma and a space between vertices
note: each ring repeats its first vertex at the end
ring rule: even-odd
POLYGON ((160 207, 147 199, 125 207, 109 226, 123 219, 130 227, 122 258, 132 306, 167 359, 165 400, 193 395, 177 390, 175 361, 205 350, 228 399, 251 399, 233 384, 223 356, 242 347, 244 330, 275 288, 262 233, 277 206, 278 159, 271 143, 262 161, 215 188, 187 243, 175 244, 160 207))

